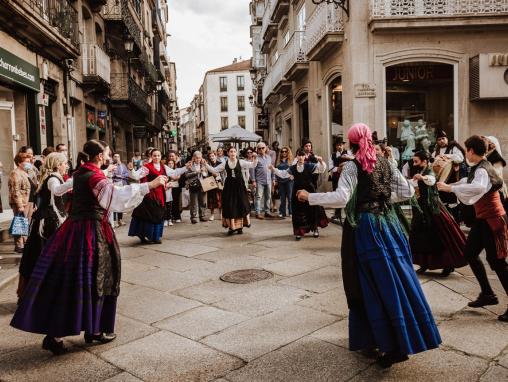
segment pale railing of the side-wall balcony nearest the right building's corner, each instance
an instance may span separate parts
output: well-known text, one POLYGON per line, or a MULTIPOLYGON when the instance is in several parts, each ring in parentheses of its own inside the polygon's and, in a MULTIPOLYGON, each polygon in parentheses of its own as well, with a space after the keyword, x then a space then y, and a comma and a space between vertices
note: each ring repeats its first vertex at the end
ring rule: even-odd
POLYGON ((303 51, 309 54, 327 33, 343 31, 343 11, 332 4, 321 3, 307 19, 303 51))

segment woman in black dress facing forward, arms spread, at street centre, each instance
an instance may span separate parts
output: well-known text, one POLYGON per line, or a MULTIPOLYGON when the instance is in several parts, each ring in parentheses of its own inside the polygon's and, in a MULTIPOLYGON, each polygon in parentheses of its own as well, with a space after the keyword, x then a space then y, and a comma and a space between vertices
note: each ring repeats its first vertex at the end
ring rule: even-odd
POLYGON ((222 226, 228 228, 228 235, 235 232, 242 234, 244 226, 250 227, 249 197, 242 169, 256 168, 256 154, 253 154, 253 158, 252 162, 238 159, 236 149, 231 147, 227 160, 216 167, 208 165, 208 171, 215 175, 226 172, 222 190, 222 226))

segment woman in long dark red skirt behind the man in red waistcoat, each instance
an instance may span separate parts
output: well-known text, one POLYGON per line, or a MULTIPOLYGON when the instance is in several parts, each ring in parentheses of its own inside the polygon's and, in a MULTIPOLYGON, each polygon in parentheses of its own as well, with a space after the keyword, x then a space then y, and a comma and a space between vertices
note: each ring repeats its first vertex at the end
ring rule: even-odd
POLYGON ((425 151, 413 157, 412 185, 418 188, 418 206, 413 207, 409 244, 413 263, 425 273, 427 269, 442 269, 449 276, 455 268, 467 265, 464 257, 466 236, 455 219, 439 200, 436 177, 429 166, 430 156, 425 151))

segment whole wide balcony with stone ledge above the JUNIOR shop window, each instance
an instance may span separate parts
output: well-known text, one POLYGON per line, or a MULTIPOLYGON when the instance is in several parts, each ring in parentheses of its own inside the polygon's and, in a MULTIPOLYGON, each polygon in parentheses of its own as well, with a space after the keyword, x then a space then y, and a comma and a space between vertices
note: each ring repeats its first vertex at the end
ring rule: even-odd
POLYGON ((371 0, 370 28, 465 28, 508 23, 508 0, 371 0))

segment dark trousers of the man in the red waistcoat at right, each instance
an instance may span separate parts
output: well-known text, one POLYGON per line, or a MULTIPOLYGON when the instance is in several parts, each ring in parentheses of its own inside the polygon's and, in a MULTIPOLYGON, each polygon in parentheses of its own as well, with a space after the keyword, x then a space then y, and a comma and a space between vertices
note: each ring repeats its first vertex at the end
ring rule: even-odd
POLYGON ((483 262, 480 260, 480 253, 484 249, 487 254, 487 262, 489 263, 490 268, 496 272, 499 281, 501 281, 501 285, 503 285, 503 288, 508 295, 508 263, 506 263, 505 259, 497 258, 494 234, 492 233, 487 221, 475 219, 471 226, 471 232, 467 237, 464 256, 473 270, 476 279, 480 283, 482 293, 493 295, 495 293, 490 286, 483 262))

